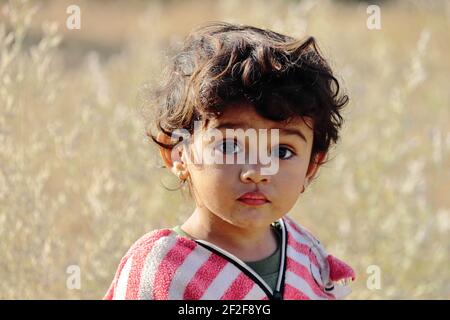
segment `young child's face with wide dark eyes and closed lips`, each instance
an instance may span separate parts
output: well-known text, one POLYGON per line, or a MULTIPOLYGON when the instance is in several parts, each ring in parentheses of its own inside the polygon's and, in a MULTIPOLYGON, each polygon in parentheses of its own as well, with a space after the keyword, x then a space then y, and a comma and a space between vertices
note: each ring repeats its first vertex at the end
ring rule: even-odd
MULTIPOLYGON (((311 119, 305 118, 306 121, 311 119)), ((226 111, 218 118, 208 123, 208 128, 216 128, 221 124, 236 124, 233 129, 247 130, 279 129, 279 141, 277 145, 270 145, 270 133, 267 143, 261 145, 258 140, 258 148, 277 150, 278 170, 273 175, 261 174, 262 165, 258 159, 256 163, 245 161, 243 164, 194 164, 187 163, 186 169, 193 184, 193 194, 197 208, 208 210, 226 222, 242 228, 261 228, 285 215, 296 203, 303 185, 316 173, 318 167, 314 163, 310 165, 310 155, 313 143, 313 132, 299 117, 291 121, 287 126, 279 122, 271 121, 259 116, 251 105, 239 104, 226 108, 226 111), (282 129, 299 131, 305 140, 297 134, 288 134, 282 129), (272 147, 272 148, 271 148, 272 147), (246 203, 239 198, 247 193, 258 190, 263 193, 267 202, 263 204, 246 203)), ((311 126, 311 123, 310 123, 311 126)), ((230 126, 227 125, 228 128, 230 126)), ((203 153, 215 156, 242 152, 245 146, 249 150, 245 139, 234 141, 227 139, 225 128, 222 131, 223 140, 208 141, 206 131, 194 135, 194 143, 191 148, 203 148, 203 153), (205 152, 208 150, 208 152, 205 152)), ((268 131, 269 131, 268 130, 268 131)), ((323 159, 323 154, 320 155, 323 159)))

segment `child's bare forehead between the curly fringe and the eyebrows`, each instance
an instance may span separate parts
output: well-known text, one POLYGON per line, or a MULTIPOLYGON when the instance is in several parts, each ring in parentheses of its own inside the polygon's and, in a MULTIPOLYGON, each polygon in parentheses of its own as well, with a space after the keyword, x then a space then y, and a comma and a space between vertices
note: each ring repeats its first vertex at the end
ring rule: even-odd
POLYGON ((289 121, 274 121, 259 115, 254 106, 246 103, 233 104, 225 108, 217 118, 208 119, 207 128, 232 127, 255 129, 280 129, 300 131, 309 141, 312 137, 313 121, 309 117, 295 117, 289 121), (310 128, 311 127, 311 128, 310 128))

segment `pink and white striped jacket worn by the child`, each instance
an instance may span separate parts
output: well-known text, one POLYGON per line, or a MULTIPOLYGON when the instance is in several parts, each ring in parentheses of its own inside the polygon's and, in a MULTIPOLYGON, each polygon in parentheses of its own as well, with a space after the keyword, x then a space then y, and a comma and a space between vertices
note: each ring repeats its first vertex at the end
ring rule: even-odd
POLYGON ((103 297, 154 300, 337 299, 349 293, 351 267, 328 255, 290 217, 282 230, 275 290, 243 261, 203 240, 159 229, 141 237, 122 258, 103 297))

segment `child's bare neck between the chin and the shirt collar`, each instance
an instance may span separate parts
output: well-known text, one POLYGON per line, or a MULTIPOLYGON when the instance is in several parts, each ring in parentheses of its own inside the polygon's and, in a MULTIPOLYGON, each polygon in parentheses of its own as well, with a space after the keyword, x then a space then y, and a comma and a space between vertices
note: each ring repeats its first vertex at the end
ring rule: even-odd
POLYGON ((181 228, 191 237, 208 241, 243 261, 257 261, 277 249, 276 237, 270 225, 239 227, 209 210, 196 208, 181 228))

